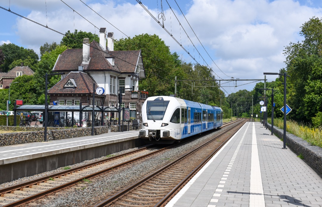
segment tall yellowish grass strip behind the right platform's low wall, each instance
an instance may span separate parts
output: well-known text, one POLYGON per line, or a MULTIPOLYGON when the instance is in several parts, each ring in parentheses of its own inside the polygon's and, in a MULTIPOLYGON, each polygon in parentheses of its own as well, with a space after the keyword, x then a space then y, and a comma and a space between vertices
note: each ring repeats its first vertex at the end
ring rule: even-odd
MULTIPOLYGON (((268 119, 268 122, 271 123, 271 120, 268 119)), ((280 129, 284 128, 284 119, 274 118, 274 126, 279 127, 280 129)), ((307 141, 313 146, 322 147, 322 128, 314 128, 311 126, 304 125, 304 123, 298 124, 295 121, 286 121, 286 131, 301 137, 303 140, 307 141)))

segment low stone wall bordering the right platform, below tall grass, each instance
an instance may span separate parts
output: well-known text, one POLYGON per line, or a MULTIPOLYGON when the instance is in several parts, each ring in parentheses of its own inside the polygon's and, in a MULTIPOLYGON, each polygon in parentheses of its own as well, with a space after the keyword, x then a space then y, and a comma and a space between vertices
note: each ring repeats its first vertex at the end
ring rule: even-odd
MULTIPOLYGON (((271 125, 268 123, 267 128, 271 130, 271 125)), ((284 130, 274 126, 273 133, 280 139, 283 139, 284 130)), ((322 148, 312 146, 302 138, 286 132, 286 147, 289 147, 297 155, 302 154, 304 160, 311 166, 317 169, 322 174, 322 148)))

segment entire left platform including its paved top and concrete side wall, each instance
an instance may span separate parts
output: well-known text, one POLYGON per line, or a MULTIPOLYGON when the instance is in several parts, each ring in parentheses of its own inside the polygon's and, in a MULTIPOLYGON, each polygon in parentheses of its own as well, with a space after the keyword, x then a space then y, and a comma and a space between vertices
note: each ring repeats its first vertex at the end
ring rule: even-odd
POLYGON ((0 146, 0 183, 143 145, 139 131, 0 146))

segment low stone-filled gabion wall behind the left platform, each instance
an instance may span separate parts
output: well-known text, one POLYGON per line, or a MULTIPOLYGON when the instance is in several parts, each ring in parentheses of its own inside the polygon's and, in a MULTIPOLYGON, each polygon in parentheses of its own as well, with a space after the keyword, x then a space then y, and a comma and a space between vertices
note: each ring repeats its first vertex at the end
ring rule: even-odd
MULTIPOLYGON (((5 127, 0 126, 0 130, 26 131, 0 134, 0 146, 17 145, 30 142, 42 142, 44 139, 43 127, 5 127)), ((94 127, 94 134, 108 133, 109 127, 94 127)), ((47 127, 47 140, 67 139, 72 137, 90 136, 92 127, 61 128, 47 127)))

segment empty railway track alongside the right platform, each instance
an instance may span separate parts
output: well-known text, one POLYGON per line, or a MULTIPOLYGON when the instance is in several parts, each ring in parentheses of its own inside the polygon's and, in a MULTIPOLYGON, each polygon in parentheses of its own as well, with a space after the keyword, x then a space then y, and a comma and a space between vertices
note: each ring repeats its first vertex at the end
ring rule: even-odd
POLYGON ((103 206, 163 206, 246 122, 232 127, 177 160, 146 176, 95 207, 103 206), (215 149, 215 150, 213 150, 215 149))

